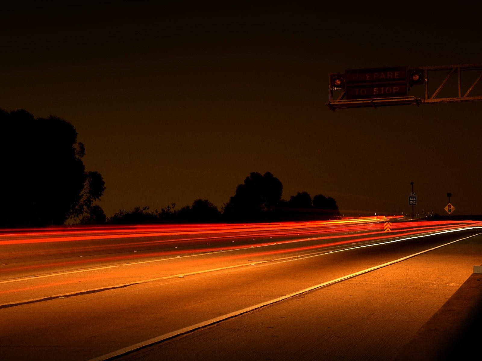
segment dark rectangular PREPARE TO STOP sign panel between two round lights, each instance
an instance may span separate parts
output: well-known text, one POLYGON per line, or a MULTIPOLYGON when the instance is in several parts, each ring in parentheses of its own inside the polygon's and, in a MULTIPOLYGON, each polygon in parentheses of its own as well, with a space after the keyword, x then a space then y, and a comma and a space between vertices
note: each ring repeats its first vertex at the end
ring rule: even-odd
POLYGON ((408 67, 345 70, 345 84, 347 100, 408 96, 408 67))

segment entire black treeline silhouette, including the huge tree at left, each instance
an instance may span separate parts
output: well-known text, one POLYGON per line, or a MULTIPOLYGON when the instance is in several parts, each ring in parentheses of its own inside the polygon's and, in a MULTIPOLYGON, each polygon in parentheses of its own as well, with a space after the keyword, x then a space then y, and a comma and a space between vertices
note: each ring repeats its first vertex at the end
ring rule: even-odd
POLYGON ((139 206, 106 217, 96 205, 106 189, 102 175, 86 170, 85 147, 74 126, 56 116, 35 118, 26 110, 0 109, 0 227, 75 224, 271 222, 339 216, 335 199, 298 192, 281 199, 281 181, 251 173, 218 209, 207 199, 161 210, 139 206))

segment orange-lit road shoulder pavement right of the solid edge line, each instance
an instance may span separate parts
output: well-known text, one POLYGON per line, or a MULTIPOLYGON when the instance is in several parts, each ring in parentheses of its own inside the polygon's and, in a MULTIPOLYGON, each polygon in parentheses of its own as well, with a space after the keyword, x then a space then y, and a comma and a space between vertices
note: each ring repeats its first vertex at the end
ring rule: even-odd
POLYGON ((480 359, 481 264, 477 235, 119 360, 480 359))

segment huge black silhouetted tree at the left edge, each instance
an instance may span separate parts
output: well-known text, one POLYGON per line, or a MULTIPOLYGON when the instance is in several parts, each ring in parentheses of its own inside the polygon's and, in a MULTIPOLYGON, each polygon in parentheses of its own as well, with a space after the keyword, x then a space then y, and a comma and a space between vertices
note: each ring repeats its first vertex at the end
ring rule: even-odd
POLYGON ((105 186, 100 173, 85 172, 77 135, 56 116, 0 110, 0 226, 61 225, 89 213, 105 186))

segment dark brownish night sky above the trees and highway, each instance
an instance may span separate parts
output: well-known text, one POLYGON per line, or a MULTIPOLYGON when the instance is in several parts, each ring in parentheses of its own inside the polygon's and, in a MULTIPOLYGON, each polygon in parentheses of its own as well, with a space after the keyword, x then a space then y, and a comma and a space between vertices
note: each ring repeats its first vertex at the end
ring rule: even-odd
MULTIPOLYGON (((482 214, 482 102, 335 112, 328 73, 482 63, 481 5, 161 1, 3 6, 0 108, 59 116, 107 216, 220 208, 251 172, 345 215, 482 214), (458 6, 458 7, 457 7, 458 6), (477 6, 477 7, 474 7, 477 6)), ((480 89, 480 85, 479 85, 480 89)))

